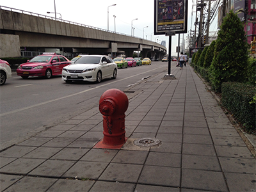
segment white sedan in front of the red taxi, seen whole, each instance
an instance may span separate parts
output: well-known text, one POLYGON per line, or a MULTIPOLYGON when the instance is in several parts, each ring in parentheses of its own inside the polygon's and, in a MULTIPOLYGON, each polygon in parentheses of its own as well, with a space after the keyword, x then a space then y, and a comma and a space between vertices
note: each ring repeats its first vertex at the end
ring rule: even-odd
POLYGON ((117 76, 117 65, 104 55, 84 55, 75 63, 62 69, 62 80, 66 83, 72 81, 95 81, 100 83, 102 79, 117 76))

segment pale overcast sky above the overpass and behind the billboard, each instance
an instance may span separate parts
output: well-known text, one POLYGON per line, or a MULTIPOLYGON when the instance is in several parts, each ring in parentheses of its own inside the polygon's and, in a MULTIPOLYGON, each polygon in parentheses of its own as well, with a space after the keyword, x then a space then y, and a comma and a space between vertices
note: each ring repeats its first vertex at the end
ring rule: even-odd
MULTIPOLYGON (((195 26, 193 25, 195 22, 195 13, 193 13, 193 16, 191 14, 193 4, 195 3, 196 0, 188 0, 188 33, 189 30, 191 29, 191 23, 192 30, 195 30, 195 26)), ((2 1, 0 6, 6 6, 9 8, 37 13, 40 15, 47 15, 48 17, 55 17, 54 0, 9 0, 2 1)), ((152 40, 154 42, 158 42, 159 44, 161 43, 161 41, 165 40, 166 48, 168 50, 169 36, 154 35, 153 0, 55 0, 55 6, 57 18, 60 18, 61 16, 61 19, 63 20, 77 22, 79 24, 93 26, 95 28, 101 29, 108 29, 109 26, 109 31, 115 31, 116 28, 117 33, 124 33, 126 35, 131 35, 132 23, 132 26, 135 28, 134 36, 138 38, 152 40), (116 6, 111 6, 113 4, 116 4, 116 6), (116 17, 114 17, 113 15, 115 15, 116 17)), ((195 6, 193 11, 195 12, 195 6)), ((210 31, 216 31, 216 28, 212 28, 211 26, 210 31)), ((184 34, 184 42, 186 42, 187 40, 186 36, 187 34, 184 34)), ((182 42, 182 39, 183 35, 180 34, 180 43, 182 42)), ((172 55, 177 55, 177 46, 178 35, 175 35, 172 36, 172 55)))

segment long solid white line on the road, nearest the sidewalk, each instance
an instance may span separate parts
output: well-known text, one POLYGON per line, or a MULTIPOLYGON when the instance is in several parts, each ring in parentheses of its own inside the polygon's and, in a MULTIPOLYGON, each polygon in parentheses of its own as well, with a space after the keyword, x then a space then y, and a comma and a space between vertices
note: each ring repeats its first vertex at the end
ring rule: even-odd
MULTIPOLYGON (((166 66, 164 66, 164 67, 166 67, 166 66)), ((64 97, 60 97, 60 98, 58 98, 58 99, 47 100, 47 101, 45 101, 45 102, 40 102, 40 103, 38 103, 38 104, 35 104, 35 105, 32 105, 32 106, 28 106, 28 107, 26 107, 26 108, 20 108, 20 109, 16 109, 16 110, 13 110, 13 111, 6 112, 6 113, 1 113, 1 114, 0 114, 0 117, 1 117, 1 116, 4 116, 4 115, 10 115, 10 114, 12 114, 12 113, 17 113, 17 112, 20 112, 20 111, 24 111, 24 110, 26 110, 26 109, 36 108, 36 107, 38 107, 38 106, 42 106, 42 105, 44 105, 44 104, 49 104, 50 102, 54 102, 54 101, 57 101, 57 100, 67 99, 68 97, 74 97, 74 96, 76 96, 76 95, 80 95, 81 93, 89 92, 89 91, 95 90, 95 89, 97 89, 97 88, 100 88, 100 87, 102 87, 102 86, 108 86, 109 84, 113 84, 113 83, 116 83, 116 82, 119 82, 119 81, 124 81, 124 80, 126 80, 126 79, 131 78, 131 77, 139 76, 139 75, 141 75, 141 74, 145 74, 145 73, 147 73, 147 72, 150 72, 150 71, 153 71, 153 70, 157 70, 157 69, 159 69, 159 68, 163 68, 163 67, 154 68, 154 69, 152 69, 152 70, 148 70, 148 71, 146 71, 146 72, 142 72, 142 73, 136 74, 136 75, 134 75, 134 76, 129 76, 129 77, 126 77, 126 78, 124 78, 124 79, 120 79, 120 80, 118 80, 118 81, 112 81, 112 82, 107 83, 107 84, 102 84, 102 85, 100 85, 100 86, 95 86, 94 88, 90 88, 90 89, 84 90, 84 91, 82 91, 82 92, 77 92, 77 93, 74 93, 74 94, 72 94, 72 95, 67 95, 67 96, 64 96, 64 97)))

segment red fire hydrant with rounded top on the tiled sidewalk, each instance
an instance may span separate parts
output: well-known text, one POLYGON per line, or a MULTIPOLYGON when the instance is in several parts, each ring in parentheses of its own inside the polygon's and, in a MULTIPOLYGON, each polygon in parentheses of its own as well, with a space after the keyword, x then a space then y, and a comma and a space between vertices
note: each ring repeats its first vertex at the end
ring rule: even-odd
POLYGON ((124 92, 111 89, 104 92, 99 101, 99 110, 103 116, 104 138, 97 148, 120 148, 125 139, 125 111, 128 98, 124 92))

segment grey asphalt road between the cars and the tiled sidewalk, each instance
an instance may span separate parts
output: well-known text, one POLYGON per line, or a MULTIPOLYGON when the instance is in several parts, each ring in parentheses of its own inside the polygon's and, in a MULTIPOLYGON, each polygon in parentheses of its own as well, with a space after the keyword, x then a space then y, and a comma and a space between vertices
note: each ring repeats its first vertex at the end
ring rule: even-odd
POLYGON ((22 79, 13 73, 0 87, 0 150, 99 105, 100 96, 106 90, 124 91, 145 77, 164 70, 167 73, 167 68, 168 63, 161 61, 120 68, 116 79, 106 79, 99 84, 67 84, 61 81, 61 76, 22 79))

